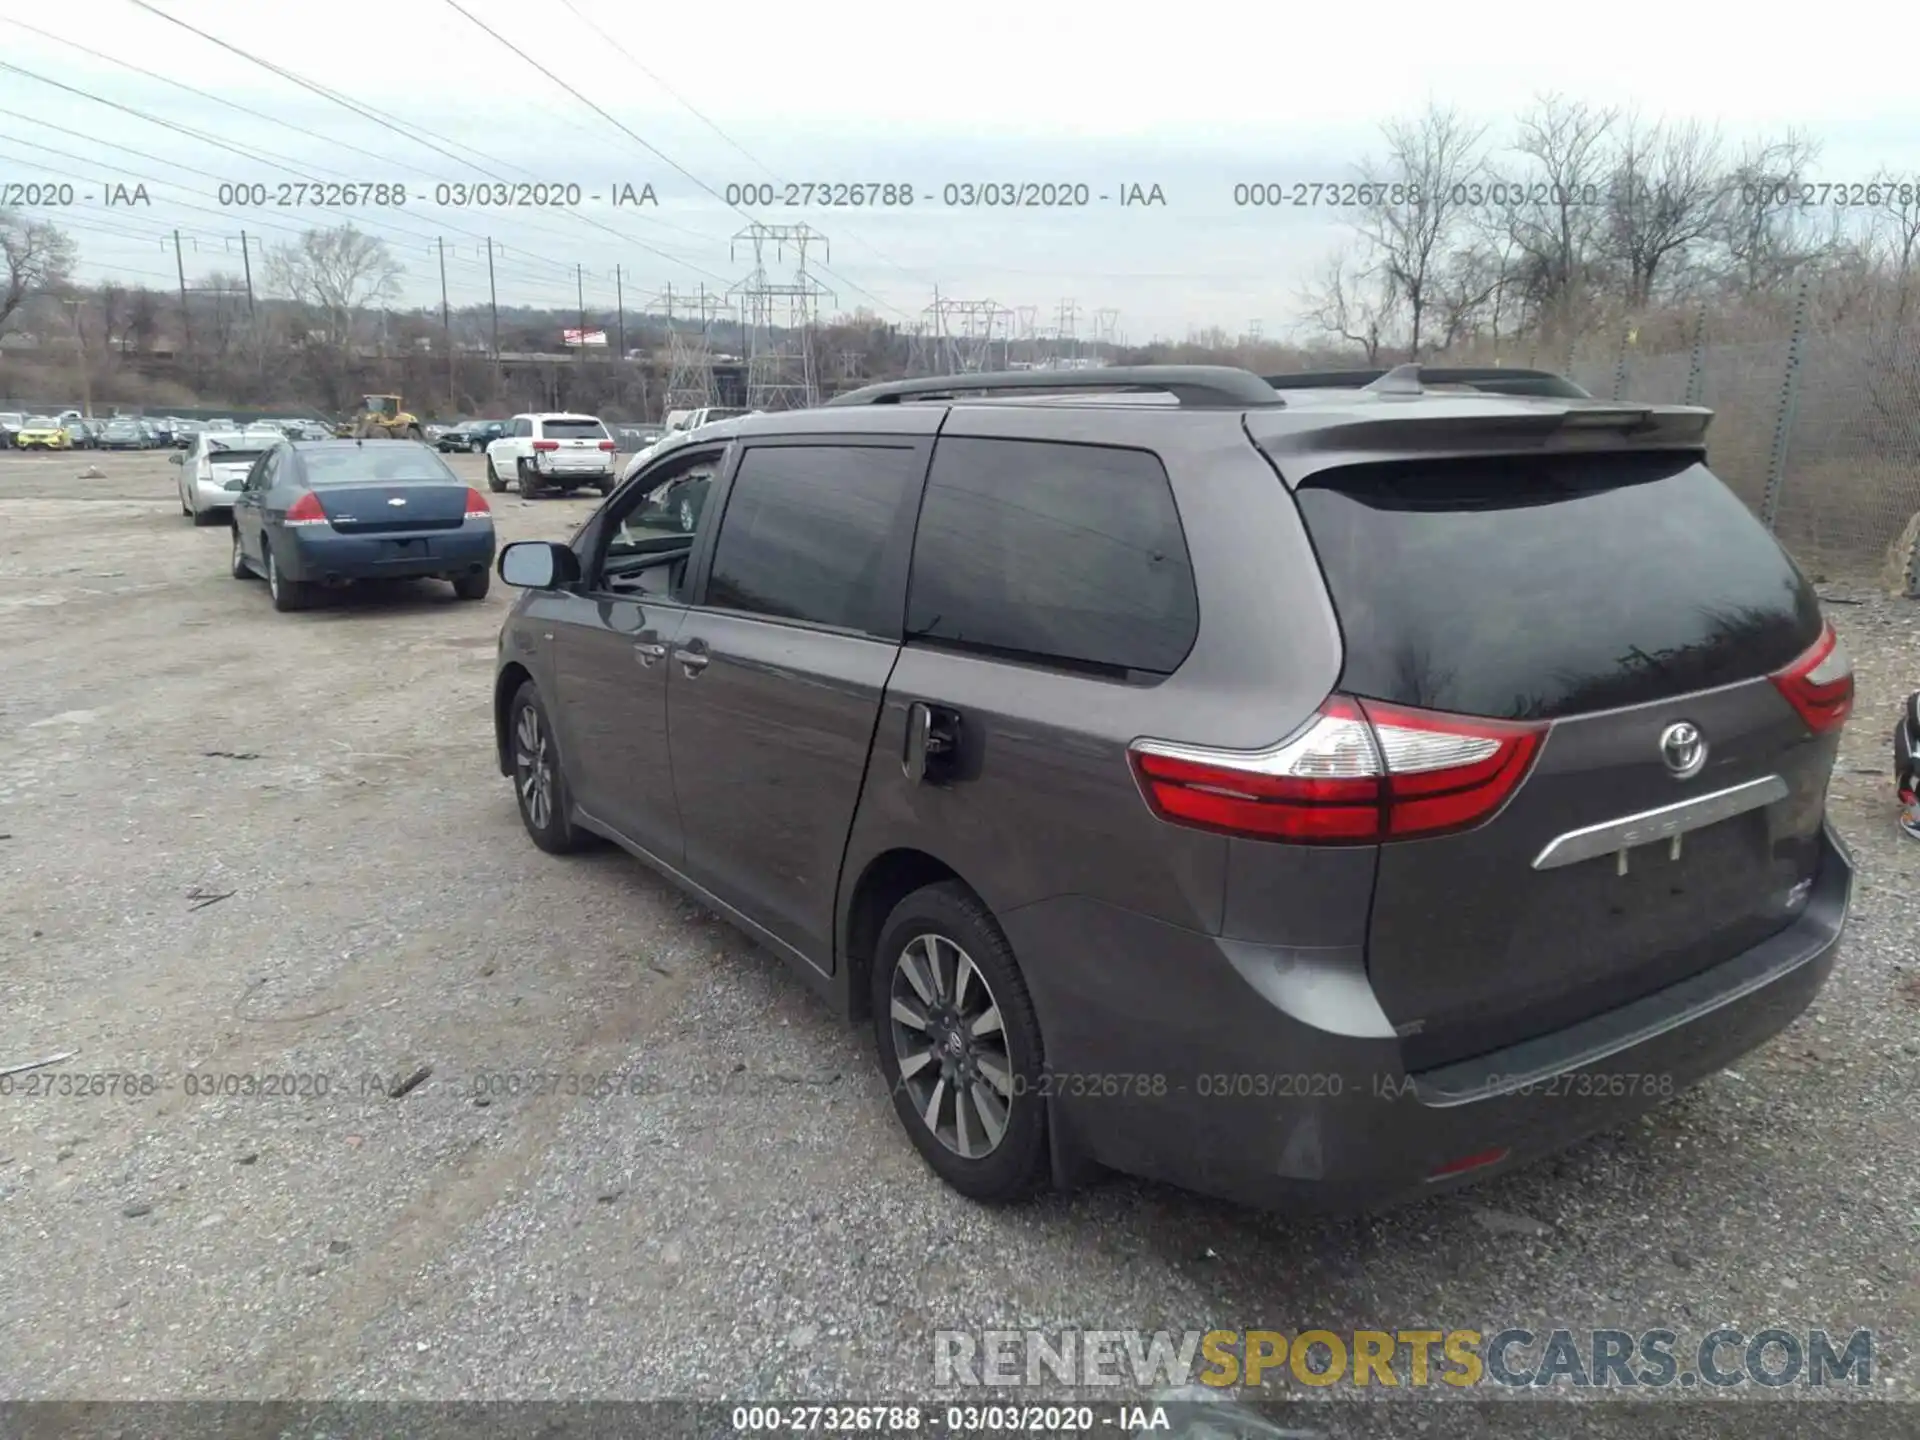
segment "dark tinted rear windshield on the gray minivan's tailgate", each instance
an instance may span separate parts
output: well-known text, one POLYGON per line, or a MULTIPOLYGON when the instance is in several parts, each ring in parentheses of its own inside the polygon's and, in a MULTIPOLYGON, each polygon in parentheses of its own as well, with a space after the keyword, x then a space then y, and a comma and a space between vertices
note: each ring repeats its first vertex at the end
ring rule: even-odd
POLYGON ((1692 455, 1421 461, 1298 492, 1346 637, 1340 687, 1553 718, 1766 674, 1820 605, 1692 455))

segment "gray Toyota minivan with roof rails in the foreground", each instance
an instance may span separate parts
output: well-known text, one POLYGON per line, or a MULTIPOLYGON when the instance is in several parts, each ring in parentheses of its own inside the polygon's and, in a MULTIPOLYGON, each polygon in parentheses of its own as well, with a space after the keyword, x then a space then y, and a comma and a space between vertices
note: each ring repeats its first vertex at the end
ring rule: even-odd
POLYGON ((970 1196, 1432 1192, 1832 970, 1853 674, 1709 419, 1139 367, 726 420, 503 551, 499 768, 870 1020, 970 1196))

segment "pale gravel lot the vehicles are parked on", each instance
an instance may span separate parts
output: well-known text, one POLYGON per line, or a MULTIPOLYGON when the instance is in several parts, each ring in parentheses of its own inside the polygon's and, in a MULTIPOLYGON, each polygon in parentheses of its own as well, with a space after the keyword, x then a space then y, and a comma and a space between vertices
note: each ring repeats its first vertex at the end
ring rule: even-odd
MULTIPOLYGON (((0 457, 0 1066, 75 1050, 161 1091, 0 1098, 6 1398, 924 1398, 947 1327, 1419 1323, 1870 1327, 1876 1388, 1912 1394, 1920 845, 1887 735, 1914 605, 1832 595, 1853 929, 1732 1073, 1384 1215, 1119 1179, 985 1212, 776 960, 628 858, 524 839, 488 720, 511 591, 275 614, 163 457, 83 465, 0 457), (476 1104, 488 1071, 639 1092, 476 1104)), ((595 503, 495 499, 505 538, 595 503)))

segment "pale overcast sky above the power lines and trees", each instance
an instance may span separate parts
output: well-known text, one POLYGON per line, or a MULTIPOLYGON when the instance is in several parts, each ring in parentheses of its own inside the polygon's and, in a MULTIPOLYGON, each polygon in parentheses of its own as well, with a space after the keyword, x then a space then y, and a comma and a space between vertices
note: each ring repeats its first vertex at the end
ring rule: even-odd
MULTIPOLYGON (((864 305, 906 321, 939 286, 1037 307, 1043 324, 1073 301, 1079 334, 1092 332, 1094 311, 1116 309, 1133 340, 1250 321, 1273 336, 1344 230, 1325 211, 1236 209, 1235 182, 1352 179, 1379 152, 1380 119, 1428 98, 1496 132, 1546 90, 1638 104, 1649 119, 1695 117, 1730 140, 1803 127, 1822 142, 1814 179, 1920 173, 1910 63, 1920 12, 1891 4, 1853 15, 1828 4, 1814 25, 1749 6, 1644 0, 1601 10, 1139 4, 1102 6, 1098 21, 1089 6, 1058 2, 983 6, 968 19, 950 6, 868 0, 459 0, 505 44, 449 0, 332 0, 313 12, 265 0, 152 4, 419 138, 132 0, 0 0, 0 63, 127 108, 0 69, 0 184, 75 186, 71 207, 42 213, 71 227, 86 278, 173 286, 175 228, 188 284, 238 271, 242 230, 284 242, 346 219, 278 205, 284 182, 388 180, 407 186, 407 204, 355 215, 405 265, 409 303, 438 305, 442 240, 455 305, 486 301, 492 236, 501 303, 572 305, 582 267, 599 315, 614 303, 616 267, 632 309, 668 284, 720 292, 753 265, 751 248, 733 242, 749 221, 804 221, 826 236, 812 259, 828 309, 864 305), (578 184, 582 204, 434 204, 436 186, 536 177, 578 184), (724 204, 728 184, 808 180, 904 182, 916 204, 724 204), (1092 204, 941 204, 948 182, 995 180, 1085 184, 1092 204), (150 205, 102 204, 106 184, 136 182, 150 205), (255 182, 267 205, 221 204, 221 184, 255 182), (637 194, 649 182, 657 207, 611 204, 614 186, 637 194), (1119 205, 1133 184, 1158 184, 1165 205, 1119 205)), ((791 271, 791 252, 770 253, 768 267, 791 271)))

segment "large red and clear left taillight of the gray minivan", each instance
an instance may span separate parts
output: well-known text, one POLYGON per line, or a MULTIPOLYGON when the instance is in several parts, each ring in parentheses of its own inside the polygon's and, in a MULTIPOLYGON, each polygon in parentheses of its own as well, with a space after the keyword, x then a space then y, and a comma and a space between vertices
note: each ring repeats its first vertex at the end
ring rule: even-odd
POLYGON ((1334 695, 1271 751, 1137 741, 1131 756, 1162 820, 1256 839, 1373 845, 1480 824, 1519 787, 1544 735, 1544 724, 1334 695))

